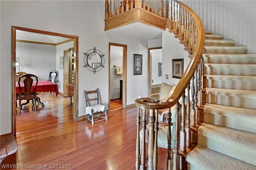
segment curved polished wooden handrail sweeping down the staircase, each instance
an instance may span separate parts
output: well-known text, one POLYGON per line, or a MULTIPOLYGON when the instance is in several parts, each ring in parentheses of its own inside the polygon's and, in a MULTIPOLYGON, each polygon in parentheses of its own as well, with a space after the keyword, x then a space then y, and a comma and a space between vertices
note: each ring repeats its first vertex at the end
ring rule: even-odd
POLYGON ((190 9, 188 6, 186 6, 182 2, 180 2, 178 0, 174 0, 174 2, 176 2, 176 3, 180 4, 181 6, 183 6, 184 8, 186 8, 186 10, 188 12, 190 12, 191 16, 194 17, 194 20, 197 24, 197 27, 198 27, 197 43, 196 43, 196 47, 194 49, 194 53, 192 54, 190 63, 188 64, 182 78, 178 82, 174 92, 172 93, 172 95, 169 98, 164 99, 162 102, 148 102, 148 100, 149 100, 148 98, 139 98, 139 99, 135 100, 135 105, 137 107, 144 108, 144 109, 166 109, 166 108, 174 106, 178 102, 182 93, 184 93, 188 83, 190 82, 192 76, 194 75, 194 72, 195 72, 195 70, 198 66, 198 63, 200 61, 200 58, 202 56, 202 50, 204 47, 205 31, 204 31, 204 25, 203 25, 201 19, 197 16, 197 14, 192 9, 190 9))

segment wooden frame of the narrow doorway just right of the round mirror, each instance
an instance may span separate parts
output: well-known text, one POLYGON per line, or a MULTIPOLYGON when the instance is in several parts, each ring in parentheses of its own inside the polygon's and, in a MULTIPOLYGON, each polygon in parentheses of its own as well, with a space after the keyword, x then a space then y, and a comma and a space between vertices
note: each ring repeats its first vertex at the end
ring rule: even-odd
POLYGON ((110 110, 110 46, 123 47, 123 94, 122 94, 122 104, 123 108, 127 107, 127 45, 109 43, 108 45, 108 110, 110 110))

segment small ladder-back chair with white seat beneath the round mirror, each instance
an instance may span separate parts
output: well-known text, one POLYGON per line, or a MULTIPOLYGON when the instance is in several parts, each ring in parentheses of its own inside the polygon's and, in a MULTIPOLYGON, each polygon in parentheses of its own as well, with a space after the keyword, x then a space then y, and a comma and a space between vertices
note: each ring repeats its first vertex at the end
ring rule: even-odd
POLYGON ((84 98, 86 103, 87 119, 94 124, 94 122, 108 120, 107 108, 99 104, 99 89, 86 91, 84 90, 84 98), (94 113, 97 113, 94 115, 94 113), (105 116, 103 116, 105 115, 105 116))

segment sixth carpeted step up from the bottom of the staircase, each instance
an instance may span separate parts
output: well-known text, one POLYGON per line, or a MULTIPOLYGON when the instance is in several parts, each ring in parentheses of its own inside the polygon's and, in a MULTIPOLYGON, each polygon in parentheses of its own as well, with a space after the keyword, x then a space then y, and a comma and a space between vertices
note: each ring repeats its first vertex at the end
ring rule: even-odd
POLYGON ((204 74, 256 76, 256 64, 204 64, 204 74))

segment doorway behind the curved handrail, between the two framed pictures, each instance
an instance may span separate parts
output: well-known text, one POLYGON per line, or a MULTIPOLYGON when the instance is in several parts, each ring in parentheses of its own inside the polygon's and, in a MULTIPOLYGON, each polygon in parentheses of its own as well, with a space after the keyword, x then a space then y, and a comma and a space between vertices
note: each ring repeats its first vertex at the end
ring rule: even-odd
POLYGON ((162 47, 148 49, 148 95, 158 93, 162 83, 162 47))

